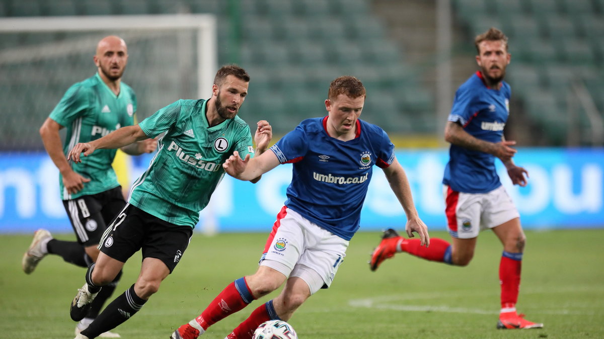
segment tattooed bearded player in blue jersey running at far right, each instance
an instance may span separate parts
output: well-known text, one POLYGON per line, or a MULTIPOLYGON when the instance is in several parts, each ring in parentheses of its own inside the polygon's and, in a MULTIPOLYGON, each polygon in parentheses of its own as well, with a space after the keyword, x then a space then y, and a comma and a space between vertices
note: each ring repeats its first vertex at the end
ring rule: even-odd
POLYGON ((501 312, 497 328, 542 328, 516 313, 525 236, 518 211, 495 171, 495 158, 507 169, 514 185, 526 186, 528 172, 516 166, 514 141, 506 141, 503 128, 509 115, 510 86, 503 81, 510 63, 507 37, 496 28, 476 37, 480 71, 462 84, 445 128, 451 143, 443 179, 447 228, 451 244, 432 239, 425 249, 415 239, 405 239, 393 229, 371 255, 371 270, 394 253, 407 252, 431 261, 466 266, 474 256, 480 230, 492 229, 503 244, 499 274, 501 312), (526 177, 525 177, 526 175, 526 177))

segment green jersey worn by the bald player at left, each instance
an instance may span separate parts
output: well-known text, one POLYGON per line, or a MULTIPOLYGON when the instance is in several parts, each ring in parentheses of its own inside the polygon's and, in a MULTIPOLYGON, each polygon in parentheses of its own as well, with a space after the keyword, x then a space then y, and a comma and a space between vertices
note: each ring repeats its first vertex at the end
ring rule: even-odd
MULTIPOLYGON (((63 153, 67 154, 78 142, 90 142, 120 127, 132 125, 136 110, 137 97, 130 86, 121 83, 120 93, 115 95, 97 73, 69 87, 50 113, 50 118, 67 128, 63 144, 63 153)), ((120 186, 111 167, 115 152, 96 150, 87 157, 83 156, 81 163, 71 163, 73 170, 90 182, 84 183, 82 191, 69 194, 59 174, 61 198, 74 199, 120 186)))

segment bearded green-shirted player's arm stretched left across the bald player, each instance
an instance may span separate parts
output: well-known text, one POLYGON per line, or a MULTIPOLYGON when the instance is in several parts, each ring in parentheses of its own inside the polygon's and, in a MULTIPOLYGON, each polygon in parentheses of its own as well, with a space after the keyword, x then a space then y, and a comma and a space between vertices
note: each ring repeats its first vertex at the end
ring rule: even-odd
POLYGON ((81 162, 80 153, 84 153, 84 156, 89 156, 94 150, 99 148, 120 148, 145 139, 149 139, 149 137, 143 132, 139 125, 122 127, 103 136, 103 138, 91 142, 80 142, 69 151, 67 159, 74 160, 74 162, 81 162))

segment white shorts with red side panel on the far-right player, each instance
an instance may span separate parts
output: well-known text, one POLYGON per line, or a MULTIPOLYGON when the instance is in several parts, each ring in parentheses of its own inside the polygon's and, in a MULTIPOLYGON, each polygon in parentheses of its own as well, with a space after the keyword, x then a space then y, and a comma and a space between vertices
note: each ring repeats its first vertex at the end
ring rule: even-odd
POLYGON ((492 229, 520 217, 503 186, 486 193, 464 193, 455 192, 445 185, 443 195, 447 229, 453 238, 476 238, 481 230, 492 229))

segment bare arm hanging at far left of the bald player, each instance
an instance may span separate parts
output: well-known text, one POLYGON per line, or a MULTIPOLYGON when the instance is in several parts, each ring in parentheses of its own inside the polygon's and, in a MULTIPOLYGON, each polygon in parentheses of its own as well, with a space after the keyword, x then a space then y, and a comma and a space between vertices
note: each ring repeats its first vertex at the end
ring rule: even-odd
POLYGON ((69 165, 61 145, 61 136, 59 135, 61 128, 63 126, 59 122, 47 118, 40 127, 40 137, 48 156, 53 160, 54 165, 57 166, 63 177, 63 186, 69 194, 75 194, 81 191, 84 188, 84 183, 89 182, 90 179, 80 176, 69 165))

